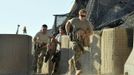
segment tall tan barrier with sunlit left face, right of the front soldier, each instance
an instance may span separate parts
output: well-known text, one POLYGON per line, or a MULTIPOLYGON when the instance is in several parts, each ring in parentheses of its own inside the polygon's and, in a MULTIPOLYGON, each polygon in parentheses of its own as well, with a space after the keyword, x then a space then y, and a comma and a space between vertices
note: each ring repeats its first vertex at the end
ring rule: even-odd
POLYGON ((130 52, 127 29, 104 29, 101 37, 101 74, 123 74, 124 64, 130 52))

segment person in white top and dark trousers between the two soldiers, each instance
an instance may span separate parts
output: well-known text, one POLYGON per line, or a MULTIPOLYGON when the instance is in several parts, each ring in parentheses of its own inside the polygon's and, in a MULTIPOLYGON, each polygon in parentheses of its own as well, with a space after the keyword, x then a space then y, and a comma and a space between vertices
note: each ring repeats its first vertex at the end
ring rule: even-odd
POLYGON ((45 62, 47 62, 47 60, 51 59, 51 57, 53 56, 53 58, 50 60, 50 62, 52 62, 51 65, 53 65, 52 67, 51 67, 51 65, 49 67, 50 74, 52 71, 53 71, 52 74, 58 74, 59 61, 60 61, 60 57, 61 57, 61 37, 62 37, 62 35, 65 35, 64 26, 59 27, 59 33, 56 35, 56 37, 52 37, 52 40, 50 42, 51 47, 48 48, 45 62))

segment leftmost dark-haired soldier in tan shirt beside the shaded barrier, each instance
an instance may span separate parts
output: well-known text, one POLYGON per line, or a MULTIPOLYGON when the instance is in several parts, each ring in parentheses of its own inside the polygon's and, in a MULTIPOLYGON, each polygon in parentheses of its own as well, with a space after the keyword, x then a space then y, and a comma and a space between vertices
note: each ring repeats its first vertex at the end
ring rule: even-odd
POLYGON ((43 65, 43 57, 46 54, 47 43, 49 36, 47 34, 47 25, 44 24, 41 30, 34 37, 34 72, 41 73, 41 68, 43 65))

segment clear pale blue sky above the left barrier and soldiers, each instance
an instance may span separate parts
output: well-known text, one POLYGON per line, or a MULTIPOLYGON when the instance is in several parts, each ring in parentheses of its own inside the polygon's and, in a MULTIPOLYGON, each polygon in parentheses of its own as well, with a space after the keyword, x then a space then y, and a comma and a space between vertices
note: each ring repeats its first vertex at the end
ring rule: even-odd
POLYGON ((0 0, 0 34, 27 34, 34 37, 47 24, 51 29, 55 14, 70 12, 74 0, 0 0))

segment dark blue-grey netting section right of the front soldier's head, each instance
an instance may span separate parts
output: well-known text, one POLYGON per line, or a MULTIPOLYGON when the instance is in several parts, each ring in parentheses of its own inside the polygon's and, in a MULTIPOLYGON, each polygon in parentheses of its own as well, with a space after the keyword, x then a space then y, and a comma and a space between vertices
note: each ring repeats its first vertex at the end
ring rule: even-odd
POLYGON ((133 0, 95 0, 90 19, 95 27, 118 26, 121 18, 134 10, 133 0))

